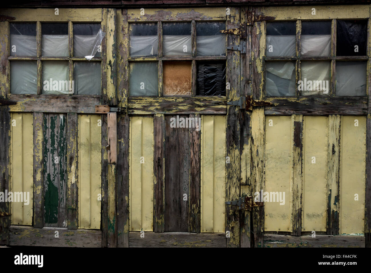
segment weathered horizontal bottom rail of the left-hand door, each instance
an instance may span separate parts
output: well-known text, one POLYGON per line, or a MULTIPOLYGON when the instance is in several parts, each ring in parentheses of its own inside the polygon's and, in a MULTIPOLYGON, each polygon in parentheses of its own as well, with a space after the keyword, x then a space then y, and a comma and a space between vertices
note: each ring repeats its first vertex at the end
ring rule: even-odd
POLYGON ((101 230, 10 226, 10 246, 102 247, 101 230), (55 238, 58 231, 59 238, 55 238))

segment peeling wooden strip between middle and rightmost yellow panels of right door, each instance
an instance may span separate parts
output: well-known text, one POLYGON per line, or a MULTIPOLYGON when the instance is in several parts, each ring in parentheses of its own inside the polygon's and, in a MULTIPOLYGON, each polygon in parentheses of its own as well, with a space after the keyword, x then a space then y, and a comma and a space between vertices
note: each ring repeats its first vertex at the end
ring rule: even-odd
POLYGON ((339 171, 341 116, 328 117, 327 234, 339 234, 339 171))

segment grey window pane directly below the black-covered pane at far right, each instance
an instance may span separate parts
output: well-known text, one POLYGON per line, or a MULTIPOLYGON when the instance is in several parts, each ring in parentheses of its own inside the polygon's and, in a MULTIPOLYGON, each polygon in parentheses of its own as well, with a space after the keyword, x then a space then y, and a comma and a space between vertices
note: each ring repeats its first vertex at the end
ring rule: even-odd
POLYGON ((366 62, 336 61, 336 95, 366 95, 366 62))

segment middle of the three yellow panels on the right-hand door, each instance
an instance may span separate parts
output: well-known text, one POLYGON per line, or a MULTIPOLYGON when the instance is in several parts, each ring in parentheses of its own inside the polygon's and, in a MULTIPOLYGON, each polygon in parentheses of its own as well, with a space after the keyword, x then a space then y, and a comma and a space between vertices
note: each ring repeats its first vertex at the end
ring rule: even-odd
POLYGON ((328 118, 304 117, 303 231, 326 231, 328 118), (315 163, 314 163, 315 162, 315 163))

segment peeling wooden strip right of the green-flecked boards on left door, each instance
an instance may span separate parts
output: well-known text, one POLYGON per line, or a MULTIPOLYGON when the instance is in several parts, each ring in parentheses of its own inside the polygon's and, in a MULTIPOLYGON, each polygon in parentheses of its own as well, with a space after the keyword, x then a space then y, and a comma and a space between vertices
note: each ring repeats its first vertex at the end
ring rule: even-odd
POLYGON ((76 113, 67 113, 67 227, 70 230, 78 228, 78 170, 77 170, 77 128, 76 113))

